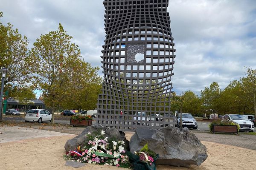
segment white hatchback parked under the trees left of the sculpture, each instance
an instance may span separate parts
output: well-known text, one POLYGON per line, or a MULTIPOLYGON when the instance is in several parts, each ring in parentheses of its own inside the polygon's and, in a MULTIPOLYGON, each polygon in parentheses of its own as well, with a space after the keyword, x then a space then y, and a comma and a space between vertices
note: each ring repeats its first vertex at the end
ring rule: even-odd
POLYGON ((44 109, 32 109, 26 113, 25 122, 51 122, 52 114, 44 109))

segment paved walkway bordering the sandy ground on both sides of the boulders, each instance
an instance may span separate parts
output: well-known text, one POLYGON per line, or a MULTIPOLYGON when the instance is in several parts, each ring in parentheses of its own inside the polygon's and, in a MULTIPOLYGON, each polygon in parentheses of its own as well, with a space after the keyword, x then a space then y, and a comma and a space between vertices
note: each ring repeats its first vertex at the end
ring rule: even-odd
MULTIPOLYGON (((10 133, 10 136, 16 134, 17 136, 13 136, 13 138, 9 138, 9 140, 17 140, 18 136, 22 136, 23 139, 26 136, 35 136, 39 135, 39 137, 45 136, 63 136, 63 135, 79 135, 85 127, 72 127, 69 125, 50 125, 50 124, 31 124, 29 127, 18 127, 19 125, 16 124, 15 126, 9 125, 2 125, 0 124, 0 142, 6 133, 10 133), (6 131, 9 130, 9 131, 6 131), (20 135, 21 134, 21 135, 20 135)), ((22 125, 21 125, 22 126, 22 125)), ((125 132, 127 134, 133 134, 134 132, 125 132)), ((256 135, 246 135, 246 134, 212 134, 212 133, 202 133, 202 132, 193 132, 201 141, 207 142, 215 142, 220 144, 228 144, 237 147, 244 147, 251 150, 256 150, 256 135)), ((7 137, 7 136, 6 136, 7 137)), ((6 138, 5 137, 5 138, 6 138)), ((6 140, 6 139, 5 139, 6 140)))

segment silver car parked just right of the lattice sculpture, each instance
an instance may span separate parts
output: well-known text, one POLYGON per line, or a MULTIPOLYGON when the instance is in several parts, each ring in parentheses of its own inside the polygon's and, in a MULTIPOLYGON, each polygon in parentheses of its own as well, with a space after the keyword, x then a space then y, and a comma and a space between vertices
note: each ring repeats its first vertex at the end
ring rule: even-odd
MULTIPOLYGON (((188 127, 193 129, 198 128, 198 124, 195 118, 190 113, 182 113, 181 119, 182 127, 188 127)), ((177 127, 180 127, 180 113, 177 116, 177 127)))

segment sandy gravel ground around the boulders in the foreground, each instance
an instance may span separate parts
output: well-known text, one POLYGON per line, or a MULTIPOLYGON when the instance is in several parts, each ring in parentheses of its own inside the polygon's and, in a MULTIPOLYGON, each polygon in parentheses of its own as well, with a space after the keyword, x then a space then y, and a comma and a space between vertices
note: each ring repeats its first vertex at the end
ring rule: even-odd
MULTIPOLYGON (((130 139, 132 133, 126 136, 130 139)), ((85 167, 66 167, 64 144, 70 136, 26 139, 20 142, 0 143, 0 170, 127 170, 125 168, 86 164, 85 167)), ((202 143, 208 158, 201 166, 172 167, 157 165, 157 170, 246 170, 256 167, 256 150, 241 147, 202 143)))

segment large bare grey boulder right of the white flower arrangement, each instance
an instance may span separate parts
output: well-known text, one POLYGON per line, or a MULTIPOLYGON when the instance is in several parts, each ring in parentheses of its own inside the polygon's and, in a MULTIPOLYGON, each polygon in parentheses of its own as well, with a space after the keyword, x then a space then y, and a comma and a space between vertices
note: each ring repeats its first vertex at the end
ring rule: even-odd
POLYGON ((162 130, 137 128, 131 136, 131 152, 148 142, 149 149, 159 154, 157 164, 189 167, 207 159, 206 147, 188 128, 164 127, 162 130))

